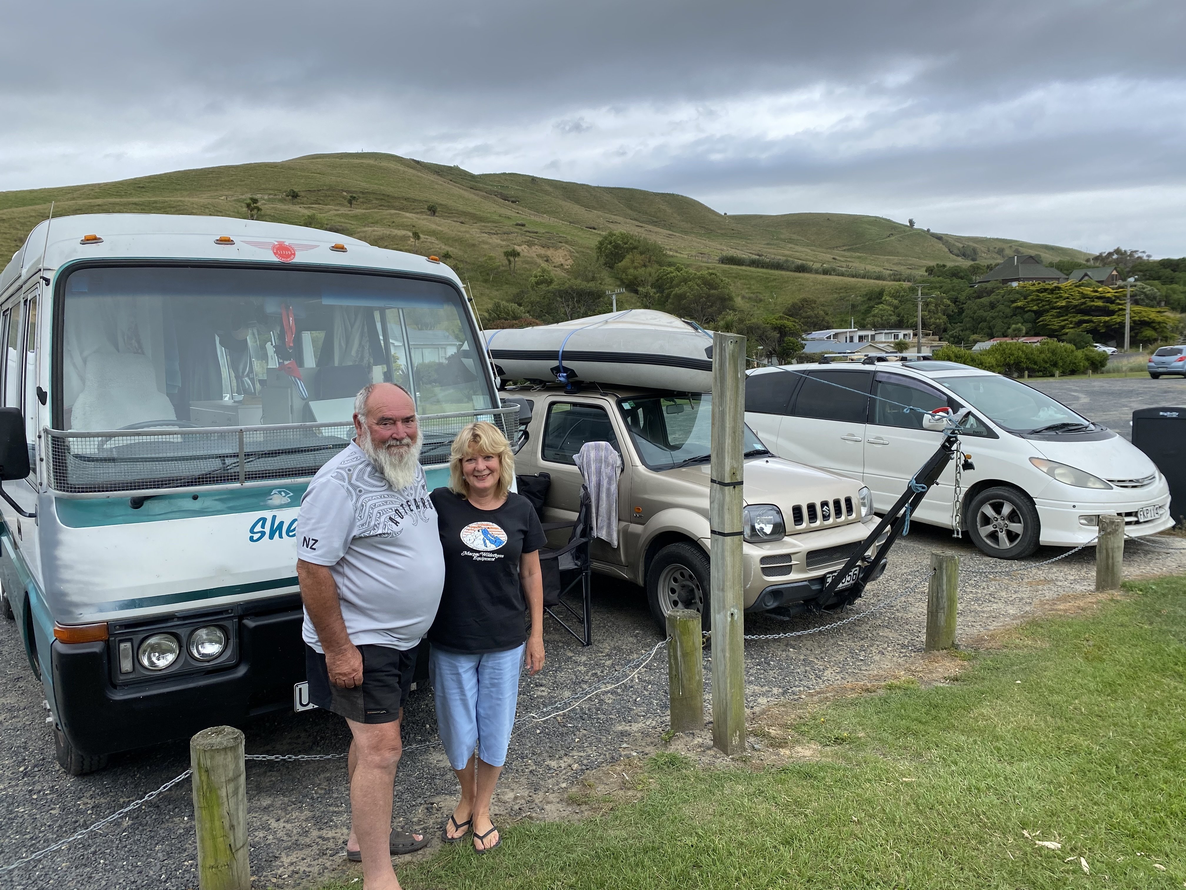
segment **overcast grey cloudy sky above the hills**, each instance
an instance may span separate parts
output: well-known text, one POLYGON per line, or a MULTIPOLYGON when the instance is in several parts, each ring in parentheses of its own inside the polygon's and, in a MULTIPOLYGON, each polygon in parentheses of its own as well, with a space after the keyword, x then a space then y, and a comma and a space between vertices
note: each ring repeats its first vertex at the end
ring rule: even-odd
POLYGON ((365 150, 1186 255, 1182 0, 0 8, 0 189, 365 150))

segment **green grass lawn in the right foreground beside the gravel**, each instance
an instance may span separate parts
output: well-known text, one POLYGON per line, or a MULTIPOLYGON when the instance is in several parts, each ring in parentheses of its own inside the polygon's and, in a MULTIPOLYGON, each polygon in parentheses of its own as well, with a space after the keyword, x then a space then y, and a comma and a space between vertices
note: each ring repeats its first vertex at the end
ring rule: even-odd
POLYGON ((801 752, 782 765, 703 769, 659 754, 640 800, 575 824, 510 826, 497 853, 444 850, 401 881, 1180 888, 1186 579, 1069 611, 1003 634, 929 688, 895 682, 767 714, 764 746, 801 752))

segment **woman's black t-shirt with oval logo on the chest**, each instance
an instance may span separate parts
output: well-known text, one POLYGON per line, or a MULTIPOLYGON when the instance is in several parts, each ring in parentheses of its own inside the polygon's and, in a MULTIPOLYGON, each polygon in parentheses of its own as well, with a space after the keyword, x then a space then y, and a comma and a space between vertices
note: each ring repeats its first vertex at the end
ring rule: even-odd
POLYGON ((514 491, 496 510, 479 510, 447 488, 429 497, 445 551, 445 592, 429 642, 474 655, 514 649, 527 640, 519 557, 548 542, 535 508, 514 491))

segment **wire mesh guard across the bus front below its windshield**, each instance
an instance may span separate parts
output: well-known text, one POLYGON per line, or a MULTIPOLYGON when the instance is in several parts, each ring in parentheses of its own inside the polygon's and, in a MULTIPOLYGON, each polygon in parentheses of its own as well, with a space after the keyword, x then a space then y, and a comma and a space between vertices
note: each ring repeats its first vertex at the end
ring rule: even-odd
MULTIPOLYGON (((423 414, 420 463, 447 464, 454 437, 476 420, 489 420, 514 441, 517 415, 514 405, 423 414)), ((355 436, 351 422, 176 428, 167 422, 151 430, 44 430, 50 490, 60 497, 135 497, 307 482, 355 436)))

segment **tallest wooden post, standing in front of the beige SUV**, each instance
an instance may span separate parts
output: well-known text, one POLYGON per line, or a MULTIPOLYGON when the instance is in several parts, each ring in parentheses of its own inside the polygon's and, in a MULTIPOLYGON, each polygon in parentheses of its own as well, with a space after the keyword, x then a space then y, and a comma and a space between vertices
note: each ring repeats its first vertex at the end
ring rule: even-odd
POLYGON ((741 612, 741 479, 745 337, 713 335, 713 458, 708 516, 713 631, 713 745, 745 751, 745 618, 741 612))

